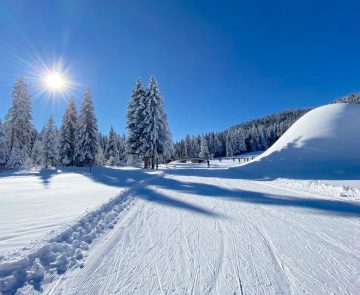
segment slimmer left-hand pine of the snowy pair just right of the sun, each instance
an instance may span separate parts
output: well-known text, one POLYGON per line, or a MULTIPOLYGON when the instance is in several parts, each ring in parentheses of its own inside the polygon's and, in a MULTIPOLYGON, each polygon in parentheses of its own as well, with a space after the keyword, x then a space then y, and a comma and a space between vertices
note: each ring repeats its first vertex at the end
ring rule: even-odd
POLYGON ((74 164, 77 120, 78 113, 75 100, 73 97, 70 97, 62 118, 62 125, 59 134, 60 163, 66 166, 74 164))

